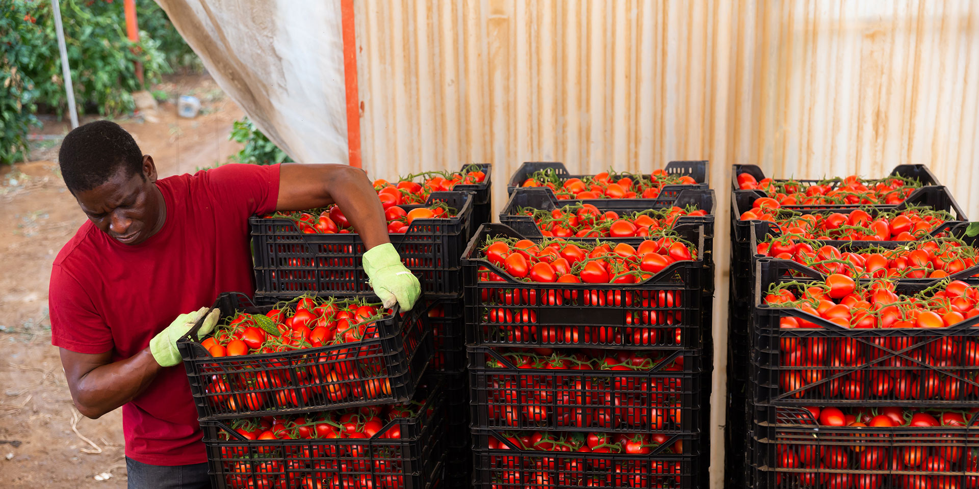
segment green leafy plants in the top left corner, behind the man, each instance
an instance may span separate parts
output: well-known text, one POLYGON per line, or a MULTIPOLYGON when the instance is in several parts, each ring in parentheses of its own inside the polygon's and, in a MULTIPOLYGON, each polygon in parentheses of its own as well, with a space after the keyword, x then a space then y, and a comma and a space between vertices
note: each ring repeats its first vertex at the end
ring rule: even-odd
MULTIPOLYGON (((121 0, 61 0, 78 111, 132 111, 131 92, 172 67, 200 71, 200 60, 154 0, 137 1, 140 41, 125 35, 121 0), (134 62, 143 65, 145 83, 134 62)), ((26 157, 35 111, 68 111, 50 0, 0 0, 0 164, 26 157)))

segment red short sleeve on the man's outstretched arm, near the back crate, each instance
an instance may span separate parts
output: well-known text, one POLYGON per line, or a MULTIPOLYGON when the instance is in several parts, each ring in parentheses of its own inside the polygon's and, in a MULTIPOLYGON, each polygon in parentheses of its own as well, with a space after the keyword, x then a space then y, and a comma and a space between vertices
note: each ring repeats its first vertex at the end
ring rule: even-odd
POLYGON ((231 163, 206 170, 210 193, 222 209, 238 207, 248 218, 275 211, 279 200, 279 164, 231 163))

